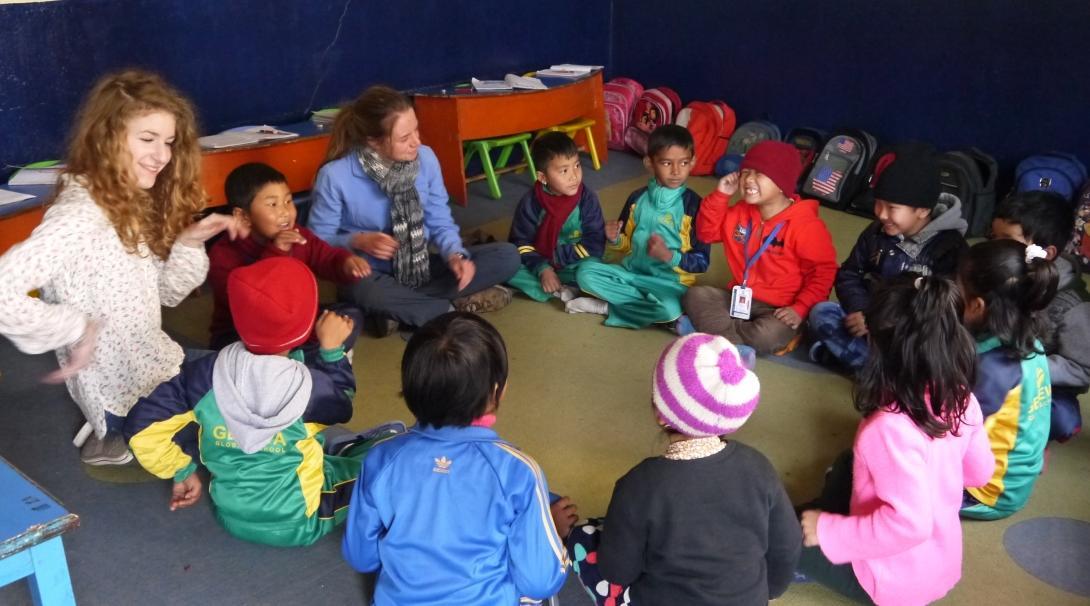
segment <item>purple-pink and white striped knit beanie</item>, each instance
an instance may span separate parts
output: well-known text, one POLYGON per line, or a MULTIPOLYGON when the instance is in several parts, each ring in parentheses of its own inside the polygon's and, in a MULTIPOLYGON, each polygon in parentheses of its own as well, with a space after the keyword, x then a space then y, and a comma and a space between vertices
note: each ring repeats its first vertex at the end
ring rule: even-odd
POLYGON ((727 339, 693 332, 666 348, 652 399, 659 416, 691 437, 722 436, 746 423, 761 397, 756 375, 727 339))

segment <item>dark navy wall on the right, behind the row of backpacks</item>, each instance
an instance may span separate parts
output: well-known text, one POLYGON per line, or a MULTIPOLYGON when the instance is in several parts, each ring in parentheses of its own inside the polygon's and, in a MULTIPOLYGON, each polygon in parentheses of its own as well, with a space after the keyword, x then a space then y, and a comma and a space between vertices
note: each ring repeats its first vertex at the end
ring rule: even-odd
POLYGON ((617 2, 611 75, 722 98, 739 121, 856 125, 882 141, 977 145, 1007 169, 1090 163, 1086 0, 617 2))

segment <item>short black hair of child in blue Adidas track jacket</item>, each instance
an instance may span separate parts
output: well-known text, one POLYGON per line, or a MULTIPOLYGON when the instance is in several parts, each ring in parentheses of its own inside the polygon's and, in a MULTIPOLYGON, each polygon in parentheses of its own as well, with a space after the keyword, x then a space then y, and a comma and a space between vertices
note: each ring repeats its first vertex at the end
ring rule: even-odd
POLYGON ((486 320, 450 312, 416 329, 401 359, 401 395, 421 425, 464 427, 498 404, 507 347, 486 320))

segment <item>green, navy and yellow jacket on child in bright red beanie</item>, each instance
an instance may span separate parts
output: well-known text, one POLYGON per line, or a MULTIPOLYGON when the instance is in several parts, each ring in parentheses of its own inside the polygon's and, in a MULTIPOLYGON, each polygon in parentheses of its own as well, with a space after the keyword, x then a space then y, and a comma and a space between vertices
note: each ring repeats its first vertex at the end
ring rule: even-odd
MULTIPOLYGON (((312 387, 302 416, 247 455, 227 429, 213 390, 216 360, 228 351, 186 362, 181 374, 141 398, 125 419, 124 436, 144 469, 174 482, 196 471, 192 453, 197 446, 211 473, 208 493, 216 518, 231 534, 269 545, 313 543, 325 532, 318 518, 330 518, 348 504, 348 489, 323 494, 328 462, 317 434, 351 419, 352 366, 341 348, 320 350, 307 365, 312 387), (191 423, 198 426, 195 444, 193 432, 179 435, 191 423)), ((300 350, 291 356, 302 363, 300 350)))

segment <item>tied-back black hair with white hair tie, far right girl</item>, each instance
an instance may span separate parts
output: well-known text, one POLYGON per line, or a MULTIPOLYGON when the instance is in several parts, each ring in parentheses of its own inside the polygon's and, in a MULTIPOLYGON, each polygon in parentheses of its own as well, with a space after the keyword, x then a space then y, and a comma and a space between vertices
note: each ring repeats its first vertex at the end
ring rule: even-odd
POLYGON ((966 298, 984 300, 981 334, 992 335, 1019 356, 1040 353, 1034 342, 1043 332, 1041 310, 1056 294, 1059 272, 1043 258, 1027 263, 1026 245, 1015 240, 973 244, 961 256, 958 279, 966 298))

